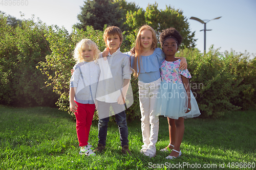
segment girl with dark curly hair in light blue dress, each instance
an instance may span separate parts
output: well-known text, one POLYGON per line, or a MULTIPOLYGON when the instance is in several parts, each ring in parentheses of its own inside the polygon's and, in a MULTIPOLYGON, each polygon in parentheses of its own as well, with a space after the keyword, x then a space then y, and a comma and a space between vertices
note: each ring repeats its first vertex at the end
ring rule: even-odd
POLYGON ((180 33, 175 28, 165 29, 160 34, 160 43, 165 60, 160 67, 161 85, 157 94, 154 114, 167 117, 169 124, 169 145, 160 150, 173 149, 166 159, 181 156, 180 145, 184 134, 184 118, 197 117, 200 111, 197 101, 190 90, 187 69, 181 70, 180 59, 175 58, 182 42, 180 33))

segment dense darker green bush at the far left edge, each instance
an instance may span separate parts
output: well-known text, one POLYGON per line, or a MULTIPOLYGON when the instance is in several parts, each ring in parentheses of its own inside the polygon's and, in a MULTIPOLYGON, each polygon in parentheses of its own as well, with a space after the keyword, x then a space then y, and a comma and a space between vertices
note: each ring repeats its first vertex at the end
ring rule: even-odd
POLYGON ((50 54, 45 29, 33 19, 23 20, 18 27, 9 26, 7 16, 0 14, 0 104, 54 106, 56 95, 44 88, 47 77, 36 69, 50 54))

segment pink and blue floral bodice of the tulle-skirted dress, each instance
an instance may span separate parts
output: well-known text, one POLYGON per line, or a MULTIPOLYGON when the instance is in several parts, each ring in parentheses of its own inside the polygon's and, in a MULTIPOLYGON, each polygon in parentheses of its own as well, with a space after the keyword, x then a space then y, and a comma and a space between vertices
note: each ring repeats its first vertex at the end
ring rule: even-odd
POLYGON ((167 83, 182 83, 181 75, 191 78, 190 72, 187 69, 180 71, 179 66, 180 59, 176 61, 164 60, 160 67, 162 81, 167 83))

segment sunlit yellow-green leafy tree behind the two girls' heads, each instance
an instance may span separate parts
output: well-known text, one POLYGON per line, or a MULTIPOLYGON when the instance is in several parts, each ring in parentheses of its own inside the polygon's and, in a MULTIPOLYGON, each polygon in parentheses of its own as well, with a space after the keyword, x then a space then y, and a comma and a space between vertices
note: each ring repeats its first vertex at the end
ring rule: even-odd
POLYGON ((147 24, 151 26, 159 36, 162 30, 174 27, 181 36, 183 42, 181 47, 195 47, 195 32, 190 33, 189 25, 186 17, 183 16, 181 10, 175 10, 170 6, 166 6, 165 10, 159 10, 158 4, 148 5, 146 10, 142 8, 138 11, 130 11, 126 14, 126 22, 129 25, 129 33, 136 35, 138 28, 147 24))

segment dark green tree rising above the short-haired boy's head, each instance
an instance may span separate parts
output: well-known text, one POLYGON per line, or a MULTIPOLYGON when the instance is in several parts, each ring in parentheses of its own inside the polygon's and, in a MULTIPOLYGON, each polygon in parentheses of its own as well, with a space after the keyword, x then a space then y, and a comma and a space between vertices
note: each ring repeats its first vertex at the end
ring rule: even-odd
POLYGON ((95 30, 103 30, 104 25, 122 26, 122 11, 117 3, 111 0, 84 1, 78 19, 81 23, 76 27, 86 30, 87 26, 93 26, 95 30))

